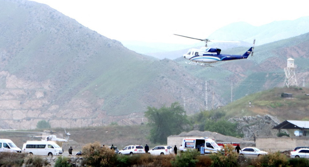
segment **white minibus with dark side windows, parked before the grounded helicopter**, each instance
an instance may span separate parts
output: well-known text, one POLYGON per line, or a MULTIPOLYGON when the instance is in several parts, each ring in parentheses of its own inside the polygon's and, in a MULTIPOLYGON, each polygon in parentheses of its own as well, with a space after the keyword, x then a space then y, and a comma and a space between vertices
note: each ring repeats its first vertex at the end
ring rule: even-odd
POLYGON ((23 144, 23 152, 31 155, 62 155, 62 148, 52 141, 27 141, 23 144))

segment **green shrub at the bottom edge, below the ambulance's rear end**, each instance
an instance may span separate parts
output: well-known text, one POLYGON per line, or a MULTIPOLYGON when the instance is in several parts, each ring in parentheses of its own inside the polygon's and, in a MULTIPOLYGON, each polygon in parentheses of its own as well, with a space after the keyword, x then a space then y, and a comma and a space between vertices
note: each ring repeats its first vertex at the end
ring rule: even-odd
POLYGON ((198 161, 197 157, 200 155, 195 149, 188 149, 176 156, 174 161, 171 161, 173 167, 195 167, 198 161))

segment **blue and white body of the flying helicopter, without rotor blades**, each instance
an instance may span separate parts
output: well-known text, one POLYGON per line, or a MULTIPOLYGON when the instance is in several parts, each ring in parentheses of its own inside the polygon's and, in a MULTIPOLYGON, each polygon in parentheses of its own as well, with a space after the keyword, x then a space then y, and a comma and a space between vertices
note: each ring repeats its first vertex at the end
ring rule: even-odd
POLYGON ((191 62, 215 63, 219 61, 246 59, 252 52, 252 47, 243 55, 220 54, 221 49, 202 47, 201 49, 190 49, 184 58, 191 62))

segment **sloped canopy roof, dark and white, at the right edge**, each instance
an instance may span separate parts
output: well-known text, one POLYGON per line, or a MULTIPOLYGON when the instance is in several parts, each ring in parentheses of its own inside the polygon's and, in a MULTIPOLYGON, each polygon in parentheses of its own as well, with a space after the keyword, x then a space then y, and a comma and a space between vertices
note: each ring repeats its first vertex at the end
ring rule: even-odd
POLYGON ((286 120, 273 129, 309 129, 309 121, 286 120))

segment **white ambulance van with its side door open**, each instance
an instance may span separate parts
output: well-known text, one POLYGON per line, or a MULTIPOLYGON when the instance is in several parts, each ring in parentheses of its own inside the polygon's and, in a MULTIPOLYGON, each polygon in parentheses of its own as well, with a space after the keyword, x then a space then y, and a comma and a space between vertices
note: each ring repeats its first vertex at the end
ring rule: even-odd
POLYGON ((208 138, 184 138, 182 145, 184 151, 186 149, 197 149, 201 154, 217 153, 221 150, 213 139, 208 138))

